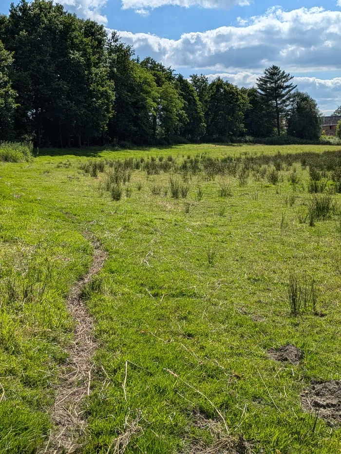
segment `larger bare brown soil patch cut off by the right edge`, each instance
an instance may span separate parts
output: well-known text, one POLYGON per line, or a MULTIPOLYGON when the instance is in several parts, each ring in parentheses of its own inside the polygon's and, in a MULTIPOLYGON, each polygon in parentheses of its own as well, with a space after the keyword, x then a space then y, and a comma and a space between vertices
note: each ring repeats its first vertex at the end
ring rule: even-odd
POLYGON ((300 396, 305 412, 315 413, 331 426, 341 425, 341 381, 314 383, 300 396))

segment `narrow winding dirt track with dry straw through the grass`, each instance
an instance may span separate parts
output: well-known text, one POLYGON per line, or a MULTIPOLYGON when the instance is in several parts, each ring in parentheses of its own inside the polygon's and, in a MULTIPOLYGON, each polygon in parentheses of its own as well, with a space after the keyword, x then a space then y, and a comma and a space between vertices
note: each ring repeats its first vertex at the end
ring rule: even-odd
POLYGON ((89 232, 83 235, 94 246, 93 264, 72 287, 67 300, 67 308, 75 320, 74 341, 66 348, 69 357, 61 371, 51 415, 55 430, 42 451, 44 453, 75 453, 81 448, 79 437, 84 434, 86 426, 83 398, 90 394, 96 342, 93 337, 94 320, 85 307, 81 292, 92 276, 102 269, 107 255, 89 232))

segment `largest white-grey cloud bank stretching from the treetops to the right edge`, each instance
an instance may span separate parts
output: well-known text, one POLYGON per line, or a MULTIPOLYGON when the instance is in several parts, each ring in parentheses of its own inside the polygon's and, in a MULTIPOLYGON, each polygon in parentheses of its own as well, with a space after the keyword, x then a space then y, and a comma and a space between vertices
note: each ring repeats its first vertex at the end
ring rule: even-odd
POLYGON ((274 7, 247 22, 239 19, 239 26, 185 33, 176 40, 119 33, 140 56, 151 55, 175 68, 257 71, 273 63, 296 71, 341 67, 341 12, 319 7, 274 7))

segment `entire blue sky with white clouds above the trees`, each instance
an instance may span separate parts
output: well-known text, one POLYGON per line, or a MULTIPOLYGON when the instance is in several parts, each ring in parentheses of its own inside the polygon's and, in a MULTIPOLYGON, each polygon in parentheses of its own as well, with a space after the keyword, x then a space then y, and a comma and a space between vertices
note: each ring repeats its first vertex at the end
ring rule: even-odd
MULTIPOLYGON (((295 76, 325 114, 341 104, 341 0, 59 0, 184 76, 254 85, 266 66, 295 76), (338 4, 340 3, 340 4, 338 4)), ((7 14, 9 0, 0 0, 7 14)))

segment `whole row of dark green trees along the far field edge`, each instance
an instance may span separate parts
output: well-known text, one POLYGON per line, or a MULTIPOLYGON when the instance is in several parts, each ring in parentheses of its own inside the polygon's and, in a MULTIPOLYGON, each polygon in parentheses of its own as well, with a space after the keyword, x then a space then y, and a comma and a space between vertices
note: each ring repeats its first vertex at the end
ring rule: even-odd
POLYGON ((71 147, 318 139, 321 113, 292 78, 273 65, 250 89, 220 77, 188 80, 53 1, 21 0, 0 16, 0 140, 71 147))

